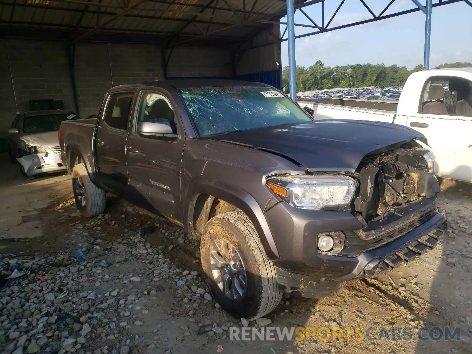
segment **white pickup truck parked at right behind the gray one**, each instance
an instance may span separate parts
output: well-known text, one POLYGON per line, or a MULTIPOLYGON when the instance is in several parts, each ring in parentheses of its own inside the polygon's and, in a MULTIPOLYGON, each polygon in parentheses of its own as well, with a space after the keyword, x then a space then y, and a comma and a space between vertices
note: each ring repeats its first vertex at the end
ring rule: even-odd
MULTIPOLYGON (((409 126, 426 136, 436 174, 472 182, 472 68, 419 71, 406 80, 397 110, 298 102, 315 119, 357 119, 409 126)), ((365 103, 364 103, 365 104, 365 103)))

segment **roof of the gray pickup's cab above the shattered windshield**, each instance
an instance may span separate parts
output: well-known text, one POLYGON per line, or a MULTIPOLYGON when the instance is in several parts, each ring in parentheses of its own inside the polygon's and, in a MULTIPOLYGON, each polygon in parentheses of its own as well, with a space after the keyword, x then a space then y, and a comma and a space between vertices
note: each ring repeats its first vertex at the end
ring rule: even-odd
POLYGON ((166 87, 172 86, 174 88, 183 89, 190 87, 214 87, 214 86, 263 86, 271 87, 267 84, 250 81, 230 80, 230 79, 172 79, 172 80, 155 80, 145 81, 137 84, 126 84, 113 87, 116 89, 133 89, 136 86, 154 86, 154 87, 166 87))

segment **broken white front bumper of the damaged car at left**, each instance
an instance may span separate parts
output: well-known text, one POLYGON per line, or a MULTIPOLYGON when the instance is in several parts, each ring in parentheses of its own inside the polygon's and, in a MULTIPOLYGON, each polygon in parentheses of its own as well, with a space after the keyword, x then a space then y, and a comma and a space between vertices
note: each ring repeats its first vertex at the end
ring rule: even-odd
POLYGON ((44 172, 56 172, 63 171, 66 167, 60 160, 59 153, 54 147, 45 147, 47 152, 37 153, 31 155, 24 155, 17 159, 25 170, 25 174, 28 177, 44 173, 44 172))

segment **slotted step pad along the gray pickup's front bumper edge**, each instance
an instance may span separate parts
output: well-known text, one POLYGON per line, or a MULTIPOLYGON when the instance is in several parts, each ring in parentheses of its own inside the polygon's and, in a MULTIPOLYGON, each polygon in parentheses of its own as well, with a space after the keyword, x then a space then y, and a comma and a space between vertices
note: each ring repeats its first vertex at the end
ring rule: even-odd
POLYGON ((436 247, 445 231, 446 225, 442 228, 434 229, 430 233, 420 237, 418 240, 413 242, 413 244, 405 247, 405 249, 390 255, 383 261, 380 261, 377 272, 385 274, 388 270, 397 268, 403 262, 408 263, 409 261, 413 261, 416 257, 426 253, 426 251, 432 250, 436 247))

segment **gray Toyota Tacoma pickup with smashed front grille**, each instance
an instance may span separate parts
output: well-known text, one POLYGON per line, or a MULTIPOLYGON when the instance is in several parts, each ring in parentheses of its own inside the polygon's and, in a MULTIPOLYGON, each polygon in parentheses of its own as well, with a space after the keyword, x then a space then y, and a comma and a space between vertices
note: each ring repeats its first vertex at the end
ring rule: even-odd
POLYGON ((395 124, 317 120, 277 89, 230 80, 112 88, 98 119, 65 121, 60 157, 86 217, 105 191, 201 239, 216 300, 236 317, 283 292, 320 298, 433 248, 434 156, 395 124))

